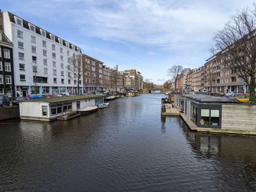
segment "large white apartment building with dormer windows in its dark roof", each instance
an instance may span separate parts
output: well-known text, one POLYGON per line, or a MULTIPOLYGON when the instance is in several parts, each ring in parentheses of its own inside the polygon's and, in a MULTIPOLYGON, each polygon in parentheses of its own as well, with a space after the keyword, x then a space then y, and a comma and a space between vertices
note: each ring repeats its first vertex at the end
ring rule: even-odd
POLYGON ((10 12, 1 14, 3 32, 13 43, 15 95, 34 94, 35 83, 37 94, 76 94, 68 59, 81 49, 10 12))

